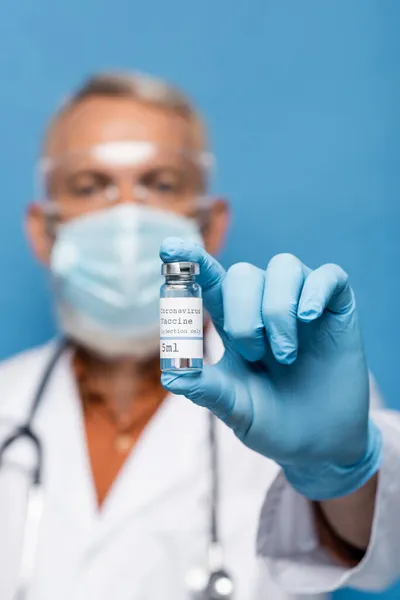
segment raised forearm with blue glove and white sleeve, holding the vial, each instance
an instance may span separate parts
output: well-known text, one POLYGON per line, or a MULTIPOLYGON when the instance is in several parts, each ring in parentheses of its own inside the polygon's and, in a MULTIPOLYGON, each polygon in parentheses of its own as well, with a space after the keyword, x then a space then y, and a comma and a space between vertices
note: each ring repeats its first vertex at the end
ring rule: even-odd
POLYGON ((164 386, 212 410, 244 444, 281 466, 260 526, 266 564, 293 593, 344 585, 350 576, 316 536, 313 502, 322 503, 322 514, 327 511, 333 526, 362 550, 379 471, 379 543, 373 526, 354 572, 389 538, 388 548, 397 544, 397 551, 384 563, 378 556, 375 571, 365 577, 364 569, 361 582, 371 590, 386 585, 400 574, 394 563, 400 529, 387 523, 388 516, 397 518, 399 490, 392 491, 392 480, 400 472, 400 436, 397 429, 394 441, 392 423, 370 418, 368 368, 346 273, 336 265, 312 271, 287 254, 274 257, 266 271, 241 263, 226 273, 203 248, 175 239, 164 243, 161 258, 199 263, 204 303, 225 346, 216 365, 190 377, 164 373, 164 386), (339 518, 343 506, 347 516, 339 518), (357 507, 362 514, 345 532, 357 507))

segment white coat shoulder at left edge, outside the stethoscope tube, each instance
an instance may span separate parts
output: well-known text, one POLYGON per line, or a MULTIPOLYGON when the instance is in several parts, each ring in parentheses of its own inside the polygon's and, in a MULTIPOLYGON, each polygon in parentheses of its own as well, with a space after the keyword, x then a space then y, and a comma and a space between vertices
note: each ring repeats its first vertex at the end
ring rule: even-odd
POLYGON ((25 414, 55 345, 51 341, 0 362, 0 419, 25 414))

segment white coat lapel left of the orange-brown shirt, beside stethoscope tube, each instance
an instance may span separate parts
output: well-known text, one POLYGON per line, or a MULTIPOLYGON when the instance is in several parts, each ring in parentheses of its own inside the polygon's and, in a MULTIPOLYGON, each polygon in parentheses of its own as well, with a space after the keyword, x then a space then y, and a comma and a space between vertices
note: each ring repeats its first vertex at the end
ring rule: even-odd
POLYGON ((88 532, 97 507, 71 355, 66 350, 56 365, 35 427, 44 444, 46 493, 54 506, 88 532))

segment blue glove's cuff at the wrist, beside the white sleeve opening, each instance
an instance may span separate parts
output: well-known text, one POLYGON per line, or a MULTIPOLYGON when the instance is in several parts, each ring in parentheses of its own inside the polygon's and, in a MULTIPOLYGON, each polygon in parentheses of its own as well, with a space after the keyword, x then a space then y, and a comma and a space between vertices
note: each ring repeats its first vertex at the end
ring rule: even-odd
POLYGON ((352 494, 379 470, 382 462, 382 434, 373 421, 368 424, 368 447, 363 458, 347 467, 315 463, 307 467, 283 467, 286 479, 310 500, 330 500, 352 494))

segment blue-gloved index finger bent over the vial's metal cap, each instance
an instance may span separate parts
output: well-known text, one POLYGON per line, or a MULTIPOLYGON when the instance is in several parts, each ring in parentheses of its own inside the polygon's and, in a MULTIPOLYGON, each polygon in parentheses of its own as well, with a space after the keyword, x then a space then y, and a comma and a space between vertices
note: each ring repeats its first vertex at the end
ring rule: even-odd
POLYGON ((204 306, 218 329, 224 325, 222 303, 222 282, 225 269, 199 244, 180 238, 166 238, 160 248, 160 257, 164 262, 189 261, 200 265, 198 283, 203 290, 204 306))

